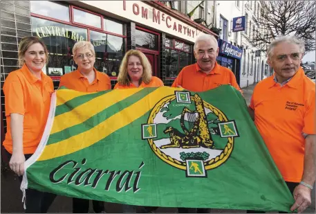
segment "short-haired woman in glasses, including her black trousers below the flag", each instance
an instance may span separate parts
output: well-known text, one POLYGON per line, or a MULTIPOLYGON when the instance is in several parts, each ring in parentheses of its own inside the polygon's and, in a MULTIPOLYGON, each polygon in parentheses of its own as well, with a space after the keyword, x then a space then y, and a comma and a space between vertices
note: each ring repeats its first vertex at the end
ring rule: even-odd
MULTIPOLYGON (((59 82, 59 87, 66 87, 75 91, 95 92, 111 89, 111 80, 108 75, 97 71, 95 51, 91 42, 80 41, 73 46, 73 60, 78 69, 66 73, 59 82)), ((103 202, 92 201, 95 213, 105 213, 103 202)), ((73 213, 88 213, 89 199, 73 198, 73 213)))

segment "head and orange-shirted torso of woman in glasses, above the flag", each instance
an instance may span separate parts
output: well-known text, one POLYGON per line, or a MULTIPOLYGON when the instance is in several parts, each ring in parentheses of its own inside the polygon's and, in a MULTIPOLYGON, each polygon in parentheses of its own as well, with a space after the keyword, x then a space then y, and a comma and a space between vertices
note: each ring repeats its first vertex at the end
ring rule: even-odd
POLYGON ((95 51, 91 42, 80 41, 73 46, 73 60, 78 69, 66 73, 59 82, 59 87, 66 87, 82 92, 95 92, 111 89, 111 80, 108 75, 97 71, 95 51))

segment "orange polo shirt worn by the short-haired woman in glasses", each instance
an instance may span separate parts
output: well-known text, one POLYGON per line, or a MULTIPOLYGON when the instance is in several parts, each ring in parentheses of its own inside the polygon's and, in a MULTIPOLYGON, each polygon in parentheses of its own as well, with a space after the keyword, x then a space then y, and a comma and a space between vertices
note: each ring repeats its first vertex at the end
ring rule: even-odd
POLYGON ((95 80, 91 84, 89 84, 88 79, 79 70, 75 70, 71 73, 66 73, 60 78, 59 87, 64 86, 67 89, 82 92, 110 90, 111 80, 109 76, 97 71, 95 68, 93 68, 93 71, 95 71, 95 80))

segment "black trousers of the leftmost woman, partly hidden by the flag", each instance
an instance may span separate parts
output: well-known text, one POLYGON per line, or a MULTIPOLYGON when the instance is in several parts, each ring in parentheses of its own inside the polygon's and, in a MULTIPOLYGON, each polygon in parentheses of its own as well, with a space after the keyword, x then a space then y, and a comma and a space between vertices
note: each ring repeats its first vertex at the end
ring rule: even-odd
MULTIPOLYGON (((6 150, 8 159, 10 160, 12 154, 6 150)), ((24 157, 29 159, 32 154, 24 154, 24 157)), ((19 176, 19 181, 23 179, 22 176, 19 176)), ((26 213, 47 213, 48 208, 54 202, 56 195, 53 193, 44 193, 39 190, 26 189, 26 213)))

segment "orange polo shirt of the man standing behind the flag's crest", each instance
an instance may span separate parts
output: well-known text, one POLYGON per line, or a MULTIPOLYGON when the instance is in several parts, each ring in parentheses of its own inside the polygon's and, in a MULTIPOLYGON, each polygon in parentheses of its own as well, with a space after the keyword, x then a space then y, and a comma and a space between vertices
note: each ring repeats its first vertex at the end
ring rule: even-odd
POLYGON ((185 66, 177 76, 171 87, 181 86, 189 91, 207 91, 215 89, 221 84, 231 84, 232 87, 241 91, 237 84, 236 77, 230 69, 215 62, 214 69, 206 74, 201 71, 197 63, 185 66))

